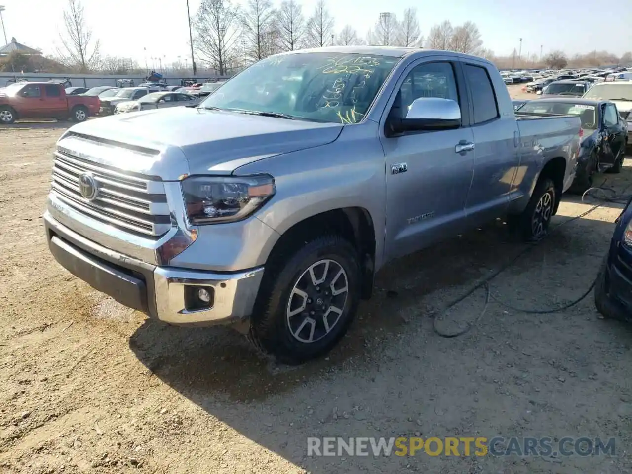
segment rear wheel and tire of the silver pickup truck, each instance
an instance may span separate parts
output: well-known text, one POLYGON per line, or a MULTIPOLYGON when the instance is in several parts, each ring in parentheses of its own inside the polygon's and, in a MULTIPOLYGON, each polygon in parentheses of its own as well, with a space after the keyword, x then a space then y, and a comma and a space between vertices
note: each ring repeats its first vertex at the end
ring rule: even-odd
POLYGON ((557 191, 553 181, 549 178, 540 178, 525 210, 511 219, 513 228, 522 240, 532 242, 544 238, 556 203, 557 191))

